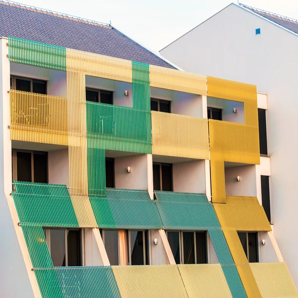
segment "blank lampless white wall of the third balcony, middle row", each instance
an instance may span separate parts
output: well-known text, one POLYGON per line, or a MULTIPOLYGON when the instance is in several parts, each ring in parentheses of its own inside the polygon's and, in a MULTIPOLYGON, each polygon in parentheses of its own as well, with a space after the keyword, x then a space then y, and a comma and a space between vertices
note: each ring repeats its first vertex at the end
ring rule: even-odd
POLYGON ((205 160, 174 163, 173 191, 206 193, 205 160))

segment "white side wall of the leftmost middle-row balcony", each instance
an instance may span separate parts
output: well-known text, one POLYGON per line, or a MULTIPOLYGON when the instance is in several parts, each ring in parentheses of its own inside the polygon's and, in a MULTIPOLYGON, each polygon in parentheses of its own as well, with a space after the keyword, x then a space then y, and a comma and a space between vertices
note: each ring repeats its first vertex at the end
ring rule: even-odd
POLYGON ((48 152, 49 183, 70 187, 68 149, 48 152))

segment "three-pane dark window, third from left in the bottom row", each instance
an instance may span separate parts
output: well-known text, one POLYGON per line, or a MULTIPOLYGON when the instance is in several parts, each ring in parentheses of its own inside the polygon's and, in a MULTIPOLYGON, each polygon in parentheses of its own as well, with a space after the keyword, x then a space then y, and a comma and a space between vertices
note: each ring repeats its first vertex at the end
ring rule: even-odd
POLYGON ((206 231, 166 231, 176 264, 207 263, 206 231))

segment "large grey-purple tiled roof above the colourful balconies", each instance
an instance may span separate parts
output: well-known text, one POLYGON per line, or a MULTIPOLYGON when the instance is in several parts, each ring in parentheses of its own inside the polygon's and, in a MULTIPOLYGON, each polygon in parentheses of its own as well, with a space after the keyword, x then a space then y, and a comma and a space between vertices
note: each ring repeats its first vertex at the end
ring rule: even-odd
POLYGON ((2 1, 0 36, 174 68, 112 26, 2 1))

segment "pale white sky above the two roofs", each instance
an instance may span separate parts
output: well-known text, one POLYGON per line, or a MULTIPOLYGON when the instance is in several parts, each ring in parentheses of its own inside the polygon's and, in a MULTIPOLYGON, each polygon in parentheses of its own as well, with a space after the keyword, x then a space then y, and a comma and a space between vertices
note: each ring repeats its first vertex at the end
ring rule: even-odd
MULTIPOLYGON (((236 2, 237 0, 234 0, 236 2)), ((22 4, 109 23, 158 53, 232 0, 19 0, 22 4)), ((298 19, 297 0, 239 0, 298 19)))

